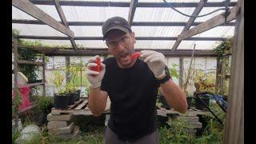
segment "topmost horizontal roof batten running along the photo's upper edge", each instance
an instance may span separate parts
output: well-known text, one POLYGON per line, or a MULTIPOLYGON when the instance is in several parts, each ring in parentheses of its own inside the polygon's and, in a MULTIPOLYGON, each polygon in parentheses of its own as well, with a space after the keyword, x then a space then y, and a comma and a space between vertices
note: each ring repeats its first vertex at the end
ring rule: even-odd
MULTIPOLYGON (((54 5, 52 0, 30 0, 36 5, 54 5)), ((198 2, 168 2, 174 7, 196 7, 198 2)), ((130 2, 86 2, 86 1, 60 1, 61 6, 102 6, 102 7, 130 7, 130 2)), ((236 6, 237 2, 230 2, 229 6, 236 6)), ((222 7, 224 2, 207 2, 205 7, 222 7)), ((169 7, 165 2, 138 2, 137 7, 169 7)))

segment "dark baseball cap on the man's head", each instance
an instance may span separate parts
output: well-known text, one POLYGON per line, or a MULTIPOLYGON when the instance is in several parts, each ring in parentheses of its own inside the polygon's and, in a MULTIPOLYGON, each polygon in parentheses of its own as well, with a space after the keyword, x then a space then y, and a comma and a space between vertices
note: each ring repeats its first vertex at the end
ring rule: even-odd
POLYGON ((129 33, 129 31, 131 30, 130 25, 128 24, 125 18, 122 18, 122 17, 108 18, 106 22, 103 23, 103 26, 102 26, 103 40, 106 38, 106 33, 114 29, 122 30, 125 33, 129 33))

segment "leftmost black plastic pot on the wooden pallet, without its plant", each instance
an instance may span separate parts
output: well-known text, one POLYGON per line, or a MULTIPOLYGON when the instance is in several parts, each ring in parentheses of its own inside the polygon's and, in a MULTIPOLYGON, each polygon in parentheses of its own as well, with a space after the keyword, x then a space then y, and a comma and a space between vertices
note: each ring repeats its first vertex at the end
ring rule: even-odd
POLYGON ((69 102, 67 94, 54 94, 54 107, 56 109, 66 109, 69 102))

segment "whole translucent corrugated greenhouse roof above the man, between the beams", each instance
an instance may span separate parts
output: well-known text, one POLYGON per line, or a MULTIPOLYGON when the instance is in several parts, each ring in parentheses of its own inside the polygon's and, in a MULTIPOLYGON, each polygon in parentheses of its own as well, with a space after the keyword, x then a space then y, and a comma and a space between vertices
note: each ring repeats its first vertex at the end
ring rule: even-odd
MULTIPOLYGON (((30 0, 34 6, 49 14, 58 22, 62 22, 54 1, 49 0, 30 0)), ((132 1, 134 2, 134 1, 132 1)), ((135 1, 136 2, 136 1, 135 1)), ((184 14, 193 14, 200 0, 168 0, 171 6, 180 10, 184 14)), ((230 9, 236 6, 237 1, 231 0, 230 9)), ((190 20, 170 8, 162 0, 138 0, 134 6, 134 15, 130 18, 130 1, 128 0, 90 0, 90 1, 66 1, 60 0, 60 6, 66 17, 67 24, 71 31, 74 32, 74 42, 86 48, 106 48, 105 42, 102 41, 102 23, 107 18, 120 16, 131 21, 132 30, 136 36, 135 49, 173 49, 174 43, 177 43, 178 35, 186 27, 190 20), (130 20, 129 20, 130 18, 130 20)), ((66 34, 55 30, 51 26, 38 21, 29 14, 12 6, 12 27, 20 31, 19 38, 27 40, 42 41, 48 45, 70 45, 70 38, 66 34)), ((208 0, 199 10, 198 15, 207 14, 213 10, 225 8, 223 0, 208 0)), ((194 26, 206 20, 222 14, 225 10, 207 15, 205 17, 195 18, 191 26, 194 26)), ((62 22, 63 23, 63 22, 62 22)), ((212 50, 219 42, 234 35, 235 20, 206 30, 201 34, 195 34, 190 38, 182 40, 177 50, 193 50, 196 44, 196 50, 212 50)), ((176 50, 175 49, 175 50, 176 50)))

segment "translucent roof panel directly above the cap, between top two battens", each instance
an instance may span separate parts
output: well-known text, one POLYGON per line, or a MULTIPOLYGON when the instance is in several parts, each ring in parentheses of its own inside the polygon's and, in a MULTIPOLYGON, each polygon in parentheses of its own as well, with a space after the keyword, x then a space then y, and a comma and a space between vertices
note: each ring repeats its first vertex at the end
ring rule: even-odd
POLYGON ((103 22, 107 18, 128 18, 129 7, 62 6, 68 22, 103 22))

